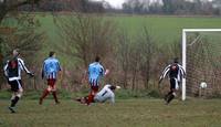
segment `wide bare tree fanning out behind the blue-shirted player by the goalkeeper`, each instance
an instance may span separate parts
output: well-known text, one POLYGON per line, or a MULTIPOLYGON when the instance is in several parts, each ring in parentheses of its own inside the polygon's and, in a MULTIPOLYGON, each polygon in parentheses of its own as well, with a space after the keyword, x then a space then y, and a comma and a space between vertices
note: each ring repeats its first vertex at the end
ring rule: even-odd
POLYGON ((60 34, 64 40, 62 52, 83 62, 84 67, 96 55, 107 56, 113 47, 115 27, 99 15, 73 14, 59 19, 60 34), (60 25, 61 24, 61 25, 60 25))

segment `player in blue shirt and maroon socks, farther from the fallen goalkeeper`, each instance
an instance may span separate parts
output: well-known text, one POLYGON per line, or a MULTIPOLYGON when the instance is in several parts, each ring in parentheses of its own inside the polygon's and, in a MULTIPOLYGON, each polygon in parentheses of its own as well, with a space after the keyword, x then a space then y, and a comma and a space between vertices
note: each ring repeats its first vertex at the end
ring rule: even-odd
POLYGON ((49 53, 49 57, 43 63, 42 78, 46 78, 48 88, 44 89, 42 96, 40 97, 40 105, 42 105, 43 99, 50 94, 50 92, 52 92, 55 103, 60 103, 56 96, 55 83, 59 76, 59 72, 61 71, 61 66, 59 60, 55 57, 55 52, 52 51, 49 53))

